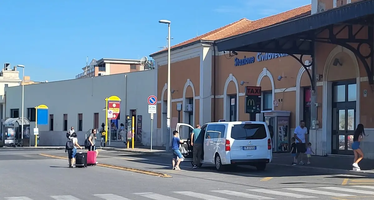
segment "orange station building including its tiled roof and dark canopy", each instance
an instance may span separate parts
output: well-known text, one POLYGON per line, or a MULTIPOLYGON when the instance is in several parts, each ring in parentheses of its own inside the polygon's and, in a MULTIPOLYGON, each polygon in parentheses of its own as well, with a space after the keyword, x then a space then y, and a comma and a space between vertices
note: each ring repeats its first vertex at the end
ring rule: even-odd
MULTIPOLYGON (((271 123, 272 115, 287 116, 290 134, 283 140, 304 120, 317 155, 353 155, 356 126, 374 132, 374 0, 311 3, 255 21, 241 19, 172 46, 172 128, 177 122, 271 123), (245 110, 246 86, 262 90, 255 116, 245 110)), ((150 56, 158 66, 157 128, 164 132, 167 51, 150 56)), ((275 131, 285 129, 279 121, 274 125, 275 131)), ((370 136, 362 141, 366 158, 374 159, 373 142, 370 136)))

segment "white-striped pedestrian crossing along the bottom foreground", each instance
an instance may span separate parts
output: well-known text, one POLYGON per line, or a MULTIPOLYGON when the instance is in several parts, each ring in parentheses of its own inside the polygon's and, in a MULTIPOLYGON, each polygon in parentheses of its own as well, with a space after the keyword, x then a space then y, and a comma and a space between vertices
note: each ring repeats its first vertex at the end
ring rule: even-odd
MULTIPOLYGON (((328 186, 313 188, 274 188, 274 189, 246 189, 242 191, 232 190, 209 190, 209 191, 169 191, 162 194, 144 192, 132 194, 93 194, 94 197, 87 197, 92 200, 276 200, 276 199, 317 199, 322 197, 374 197, 374 186, 371 185, 346 185, 346 186, 328 186)), ((0 196, 1 199, 1 196, 0 196)), ((5 200, 86 200, 73 195, 48 196, 43 198, 32 197, 4 197, 5 200)))

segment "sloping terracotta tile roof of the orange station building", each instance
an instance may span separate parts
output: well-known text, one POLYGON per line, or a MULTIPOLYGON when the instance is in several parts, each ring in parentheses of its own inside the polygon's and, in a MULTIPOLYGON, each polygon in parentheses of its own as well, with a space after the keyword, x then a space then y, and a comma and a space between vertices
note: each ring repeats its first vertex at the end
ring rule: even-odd
MULTIPOLYGON (((201 36, 194 37, 192 39, 189 39, 187 41, 184 41, 182 43, 179 43, 177 45, 174 45, 171 47, 171 49, 187 45, 192 42, 196 42, 199 40, 208 40, 208 41, 214 41, 223 39, 226 37, 235 36, 238 34, 246 33, 252 30, 256 30, 259 28, 263 28, 269 25, 277 24, 282 21, 289 20, 291 18, 297 18, 306 15, 306 13, 310 13, 311 5, 301 6, 292 10, 288 10, 286 12, 279 13, 277 15, 272 15, 266 18, 258 19, 255 21, 248 20, 246 18, 240 19, 239 21, 233 22, 229 25, 226 25, 224 27, 218 28, 216 30, 210 31, 208 33, 205 33, 201 36)), ((161 51, 155 52, 154 54, 159 54, 160 52, 166 51, 167 48, 162 49, 161 51)))

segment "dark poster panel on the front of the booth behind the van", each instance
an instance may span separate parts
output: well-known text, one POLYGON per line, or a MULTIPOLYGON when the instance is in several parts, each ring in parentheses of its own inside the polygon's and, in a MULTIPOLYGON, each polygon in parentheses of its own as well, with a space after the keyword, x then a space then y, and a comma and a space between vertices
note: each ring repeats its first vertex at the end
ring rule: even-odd
POLYGON ((278 117, 278 151, 288 152, 289 148, 289 120, 288 117, 278 117))

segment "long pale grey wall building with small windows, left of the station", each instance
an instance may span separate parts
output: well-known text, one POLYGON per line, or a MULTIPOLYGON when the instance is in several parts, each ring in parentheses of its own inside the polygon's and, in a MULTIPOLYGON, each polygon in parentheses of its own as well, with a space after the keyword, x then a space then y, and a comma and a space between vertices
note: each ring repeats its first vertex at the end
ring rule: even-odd
MULTIPOLYGON (((22 87, 7 87, 5 91, 6 104, 2 106, 4 119, 15 117, 12 116, 15 110, 21 117, 22 87)), ((105 97, 118 96, 122 100, 118 127, 121 123, 125 124, 126 115, 132 116, 132 112, 136 111, 137 116, 142 115, 141 142, 149 145, 151 120, 147 98, 156 94, 157 70, 25 85, 24 116, 30 120, 30 130, 33 130, 34 107, 40 104, 49 107, 48 125, 38 125, 40 146, 64 146, 66 129, 71 126, 77 132, 79 143, 83 144, 85 133, 92 128, 100 128, 101 123, 105 122, 105 97)), ((155 115, 153 145, 157 145, 156 120, 155 115)), ((136 128, 138 124, 137 121, 136 128)), ((117 143, 123 145, 123 142, 117 143)), ((33 139, 31 145, 34 145, 33 139)), ((99 146, 99 143, 96 145, 99 146)))

